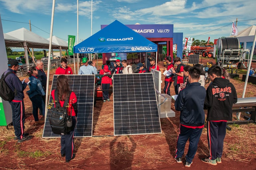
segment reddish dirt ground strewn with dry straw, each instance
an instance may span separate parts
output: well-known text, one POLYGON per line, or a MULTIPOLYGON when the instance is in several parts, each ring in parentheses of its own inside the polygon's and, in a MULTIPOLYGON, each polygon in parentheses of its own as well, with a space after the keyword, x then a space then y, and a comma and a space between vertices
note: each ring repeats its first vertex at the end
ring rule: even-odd
MULTIPOLYGON (((209 60, 211 59, 205 58, 202 62, 206 63, 209 60)), ((50 72, 50 80, 54 73, 55 70, 50 72)), ((244 82, 240 80, 241 78, 240 75, 239 80, 231 80, 231 83, 236 87, 238 97, 242 97, 244 87, 244 82)), ((162 76, 162 80, 164 82, 164 76, 162 76)), ((207 85, 205 85, 205 88, 207 88, 207 85)), ((163 87, 164 83, 162 84, 162 89, 163 87)), ((248 84, 245 97, 255 97, 255 87, 256 85, 248 84)), ((28 87, 25 91, 27 90, 28 87)), ((171 86, 171 94, 174 93, 174 87, 171 86)), ((171 109, 176 112, 176 116, 161 119, 162 134, 117 137, 113 136, 112 94, 110 95, 110 100, 111 102, 106 103, 101 100, 96 101, 97 107, 94 107, 93 114, 93 137, 75 138, 75 158, 69 163, 65 163, 65 158, 62 158, 60 154, 60 139, 42 139, 44 125, 34 124, 32 104, 28 96, 25 96, 25 131, 34 137, 30 141, 19 144, 13 140, 14 129, 12 125, 8 126, 8 130, 6 127, 0 127, 0 169, 185 169, 183 164, 178 164, 174 160, 180 116, 180 113, 174 109, 174 101, 172 101, 171 109)), ((242 115, 245 114, 242 113, 242 115)), ((235 113, 233 117, 236 120, 235 113)), ((197 153, 190 167, 191 170, 256 169, 256 125, 232 125, 231 128, 231 131, 227 131, 224 140, 222 163, 217 166, 208 165, 200 161, 200 158, 209 154, 206 128, 203 129, 197 153)), ((187 142, 185 154, 188 151, 188 146, 189 143, 187 142)))

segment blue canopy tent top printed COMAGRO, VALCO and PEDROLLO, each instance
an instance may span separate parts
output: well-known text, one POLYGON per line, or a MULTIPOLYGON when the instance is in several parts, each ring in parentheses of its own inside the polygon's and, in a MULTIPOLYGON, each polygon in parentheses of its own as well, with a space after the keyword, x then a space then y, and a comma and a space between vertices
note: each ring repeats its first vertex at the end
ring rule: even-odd
POLYGON ((74 46, 74 53, 156 52, 157 45, 115 20, 74 46))

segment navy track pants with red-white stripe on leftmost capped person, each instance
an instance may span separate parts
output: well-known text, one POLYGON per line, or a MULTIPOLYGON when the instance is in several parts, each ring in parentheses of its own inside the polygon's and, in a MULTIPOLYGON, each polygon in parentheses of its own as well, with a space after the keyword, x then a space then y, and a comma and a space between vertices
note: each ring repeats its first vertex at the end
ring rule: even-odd
POLYGON ((15 136, 18 139, 23 139, 24 123, 25 123, 25 106, 24 101, 13 102, 9 101, 12 107, 12 124, 15 131, 15 136))

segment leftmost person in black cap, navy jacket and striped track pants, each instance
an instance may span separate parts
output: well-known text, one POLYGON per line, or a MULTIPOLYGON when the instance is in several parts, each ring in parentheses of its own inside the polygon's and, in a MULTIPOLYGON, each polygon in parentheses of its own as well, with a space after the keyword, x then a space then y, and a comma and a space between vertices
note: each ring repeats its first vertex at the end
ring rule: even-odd
POLYGON ((12 123, 14 127, 15 138, 18 143, 32 139, 32 136, 25 134, 24 123, 25 123, 25 106, 24 106, 24 93, 23 90, 27 87, 29 79, 26 78, 22 83, 20 79, 16 76, 16 71, 19 70, 19 62, 15 59, 10 59, 8 61, 8 69, 4 72, 4 75, 8 73, 5 78, 7 85, 15 92, 14 99, 9 101, 12 107, 12 123), (9 72, 11 72, 9 74, 9 72))

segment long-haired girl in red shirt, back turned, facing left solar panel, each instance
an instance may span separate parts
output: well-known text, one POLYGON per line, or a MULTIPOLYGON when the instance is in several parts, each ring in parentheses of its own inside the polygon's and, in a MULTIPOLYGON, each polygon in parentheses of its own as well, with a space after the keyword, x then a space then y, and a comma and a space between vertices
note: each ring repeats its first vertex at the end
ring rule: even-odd
MULTIPOLYGON (((61 156, 66 157, 66 162, 69 162, 71 159, 75 157, 73 154, 74 149, 74 129, 76 124, 76 116, 77 116, 77 98, 73 91, 70 90, 68 85, 68 79, 65 75, 59 75, 57 78, 57 94, 60 101, 61 107, 64 107, 65 100, 68 100, 67 107, 67 115, 72 118, 72 130, 67 135, 61 136, 61 156)), ((51 92, 51 95, 55 104, 55 90, 51 92)))

